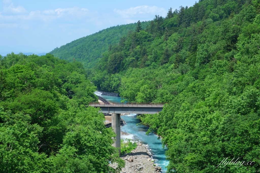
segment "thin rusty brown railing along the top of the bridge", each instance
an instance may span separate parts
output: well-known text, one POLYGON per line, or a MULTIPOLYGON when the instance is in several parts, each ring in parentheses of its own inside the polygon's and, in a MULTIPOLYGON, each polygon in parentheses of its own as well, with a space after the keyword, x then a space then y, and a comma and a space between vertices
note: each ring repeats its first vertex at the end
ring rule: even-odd
POLYGON ((102 102, 90 102, 89 105, 91 106, 104 106, 104 105, 109 105, 109 106, 163 106, 166 103, 138 103, 138 102, 127 102, 127 103, 102 103, 102 102))

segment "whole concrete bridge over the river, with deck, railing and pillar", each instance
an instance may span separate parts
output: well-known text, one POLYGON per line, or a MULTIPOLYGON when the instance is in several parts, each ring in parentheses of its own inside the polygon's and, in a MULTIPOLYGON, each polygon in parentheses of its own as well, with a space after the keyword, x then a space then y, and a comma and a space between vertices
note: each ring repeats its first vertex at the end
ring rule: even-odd
POLYGON ((120 114, 158 114, 165 103, 97 103, 89 106, 101 108, 99 112, 112 114, 112 128, 116 134, 114 147, 119 148, 120 155, 120 114))

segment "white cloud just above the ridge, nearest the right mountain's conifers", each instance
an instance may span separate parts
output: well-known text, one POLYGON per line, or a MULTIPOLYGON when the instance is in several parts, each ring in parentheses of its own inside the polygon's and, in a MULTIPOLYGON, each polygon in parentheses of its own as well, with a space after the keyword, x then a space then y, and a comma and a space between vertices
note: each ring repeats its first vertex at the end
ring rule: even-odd
POLYGON ((114 9, 114 12, 120 14, 124 18, 129 18, 140 14, 159 14, 164 16, 167 13, 167 11, 164 8, 147 5, 131 7, 125 10, 114 9))

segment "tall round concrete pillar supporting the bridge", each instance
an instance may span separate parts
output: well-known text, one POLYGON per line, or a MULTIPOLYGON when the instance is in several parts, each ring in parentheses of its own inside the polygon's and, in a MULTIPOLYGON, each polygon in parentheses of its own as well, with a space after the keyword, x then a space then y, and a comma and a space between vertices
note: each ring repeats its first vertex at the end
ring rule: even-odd
POLYGON ((112 114, 112 122, 111 126, 114 129, 116 134, 116 140, 113 144, 114 147, 119 148, 119 156, 120 156, 120 122, 121 122, 121 114, 112 114))

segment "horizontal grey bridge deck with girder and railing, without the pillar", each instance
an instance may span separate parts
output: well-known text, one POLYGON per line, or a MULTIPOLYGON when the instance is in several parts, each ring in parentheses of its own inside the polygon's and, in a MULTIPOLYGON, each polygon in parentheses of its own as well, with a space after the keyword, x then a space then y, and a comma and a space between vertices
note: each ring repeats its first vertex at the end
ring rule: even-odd
POLYGON ((102 113, 112 114, 156 114, 162 110, 165 103, 97 103, 89 106, 101 108, 102 113))

